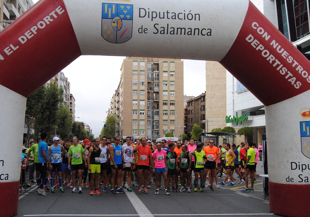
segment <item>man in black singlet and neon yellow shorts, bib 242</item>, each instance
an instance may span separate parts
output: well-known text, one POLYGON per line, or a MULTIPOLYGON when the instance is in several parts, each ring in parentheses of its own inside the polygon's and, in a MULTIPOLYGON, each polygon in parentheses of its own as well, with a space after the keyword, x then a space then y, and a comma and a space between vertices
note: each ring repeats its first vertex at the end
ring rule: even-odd
POLYGON ((87 165, 88 170, 91 173, 91 193, 90 195, 100 195, 98 191, 98 181, 100 175, 100 153, 101 148, 99 147, 100 139, 95 139, 94 146, 88 150, 87 165), (95 191, 94 191, 94 179, 95 179, 95 191))

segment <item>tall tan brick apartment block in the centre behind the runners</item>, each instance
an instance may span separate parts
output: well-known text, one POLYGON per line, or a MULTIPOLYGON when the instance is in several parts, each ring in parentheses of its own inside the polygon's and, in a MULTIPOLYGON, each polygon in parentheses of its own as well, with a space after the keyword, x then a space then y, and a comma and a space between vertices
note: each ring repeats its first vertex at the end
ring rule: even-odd
POLYGON ((157 139, 168 132, 179 137, 178 125, 184 123, 183 61, 126 57, 113 98, 123 138, 157 139))

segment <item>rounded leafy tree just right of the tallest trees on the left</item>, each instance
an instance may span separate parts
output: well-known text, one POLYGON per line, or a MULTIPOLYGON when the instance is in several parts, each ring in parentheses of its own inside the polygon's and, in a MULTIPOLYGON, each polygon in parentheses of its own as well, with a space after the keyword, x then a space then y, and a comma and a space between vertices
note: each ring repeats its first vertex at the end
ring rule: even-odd
POLYGON ((57 111, 57 135, 59 138, 69 138, 71 133, 72 118, 66 105, 60 105, 57 111))

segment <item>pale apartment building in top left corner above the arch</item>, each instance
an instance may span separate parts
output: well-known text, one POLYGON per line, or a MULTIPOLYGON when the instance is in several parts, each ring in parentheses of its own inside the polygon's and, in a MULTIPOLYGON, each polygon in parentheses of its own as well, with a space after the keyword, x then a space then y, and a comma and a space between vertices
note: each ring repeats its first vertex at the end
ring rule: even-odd
POLYGON ((0 31, 32 6, 32 0, 0 0, 0 31))

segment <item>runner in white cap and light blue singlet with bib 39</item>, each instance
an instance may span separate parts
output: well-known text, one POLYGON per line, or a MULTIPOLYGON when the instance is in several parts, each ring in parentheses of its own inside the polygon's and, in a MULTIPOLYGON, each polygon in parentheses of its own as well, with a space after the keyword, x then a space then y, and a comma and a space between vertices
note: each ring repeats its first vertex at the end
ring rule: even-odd
POLYGON ((55 193, 54 181, 55 181, 55 171, 57 170, 58 180, 60 185, 60 192, 64 193, 64 188, 62 187, 62 166, 61 166, 61 156, 64 155, 64 147, 61 144, 58 144, 59 138, 55 136, 53 138, 53 145, 48 148, 48 155, 50 156, 49 164, 51 171, 51 193, 55 193))

